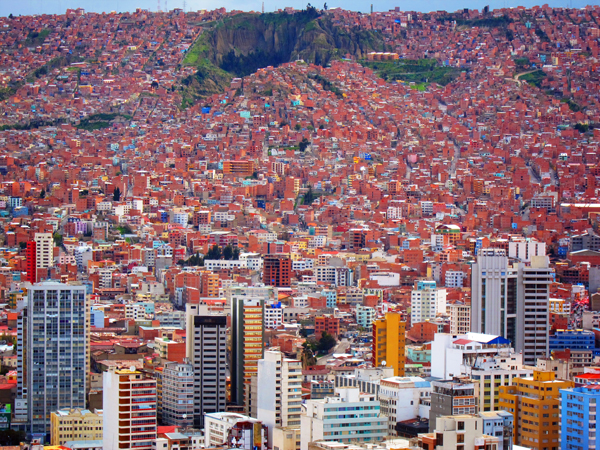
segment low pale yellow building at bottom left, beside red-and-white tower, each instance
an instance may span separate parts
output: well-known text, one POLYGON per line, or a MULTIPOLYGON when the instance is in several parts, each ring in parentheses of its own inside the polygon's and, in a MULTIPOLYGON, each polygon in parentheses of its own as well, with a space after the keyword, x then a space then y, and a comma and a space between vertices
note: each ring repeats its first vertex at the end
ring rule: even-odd
POLYGON ((101 441, 102 410, 63 409, 50 414, 52 445, 69 441, 101 441))

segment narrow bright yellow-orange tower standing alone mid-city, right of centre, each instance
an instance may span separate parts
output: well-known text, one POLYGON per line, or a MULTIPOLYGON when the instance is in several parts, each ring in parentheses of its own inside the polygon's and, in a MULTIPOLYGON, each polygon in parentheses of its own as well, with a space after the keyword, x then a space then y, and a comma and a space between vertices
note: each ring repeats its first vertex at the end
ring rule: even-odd
POLYGON ((406 323, 399 313, 387 313, 373 322, 373 365, 394 368, 394 376, 404 376, 406 323))

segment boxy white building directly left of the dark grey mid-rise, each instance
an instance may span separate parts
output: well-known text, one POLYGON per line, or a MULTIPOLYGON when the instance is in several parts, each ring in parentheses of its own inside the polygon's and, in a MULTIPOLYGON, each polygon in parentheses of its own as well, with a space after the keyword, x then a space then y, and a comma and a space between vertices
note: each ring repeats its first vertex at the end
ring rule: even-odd
POLYGON ((416 417, 429 417, 431 384, 420 377, 391 377, 379 382, 381 415, 387 417, 389 436, 396 436, 396 424, 416 417))

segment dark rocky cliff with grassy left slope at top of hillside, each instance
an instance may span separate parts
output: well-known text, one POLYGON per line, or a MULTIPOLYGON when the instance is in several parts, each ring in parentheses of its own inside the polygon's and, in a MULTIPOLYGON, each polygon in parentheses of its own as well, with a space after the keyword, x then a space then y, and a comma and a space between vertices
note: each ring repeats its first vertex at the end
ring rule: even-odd
MULTIPOLYGON (((362 58, 384 51, 379 33, 335 26, 315 8, 295 14, 238 14, 204 27, 183 64, 200 74, 183 80, 184 98, 198 99, 222 92, 232 77, 297 59, 325 66, 350 54, 362 58)), ((184 103, 186 103, 184 102, 184 103)))

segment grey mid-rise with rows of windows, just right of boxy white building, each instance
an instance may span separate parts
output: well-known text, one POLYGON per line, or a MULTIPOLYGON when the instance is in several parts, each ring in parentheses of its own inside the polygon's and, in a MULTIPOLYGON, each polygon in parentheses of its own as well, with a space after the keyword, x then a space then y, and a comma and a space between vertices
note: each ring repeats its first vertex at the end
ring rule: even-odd
POLYGON ((475 385, 471 380, 457 377, 431 382, 430 432, 434 430, 438 417, 475 413, 477 413, 477 398, 475 385))

